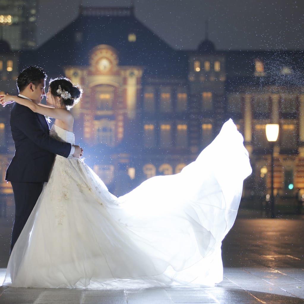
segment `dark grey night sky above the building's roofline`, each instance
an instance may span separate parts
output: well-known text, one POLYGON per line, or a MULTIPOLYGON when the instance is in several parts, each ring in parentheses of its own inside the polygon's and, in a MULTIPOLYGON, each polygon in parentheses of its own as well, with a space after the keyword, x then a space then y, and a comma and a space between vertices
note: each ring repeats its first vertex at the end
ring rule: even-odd
MULTIPOLYGON (((123 0, 40 0, 40 45, 83 6, 130 6, 123 0)), ((135 16, 175 49, 194 50, 205 37, 217 50, 304 50, 304 1, 134 0, 135 16)))

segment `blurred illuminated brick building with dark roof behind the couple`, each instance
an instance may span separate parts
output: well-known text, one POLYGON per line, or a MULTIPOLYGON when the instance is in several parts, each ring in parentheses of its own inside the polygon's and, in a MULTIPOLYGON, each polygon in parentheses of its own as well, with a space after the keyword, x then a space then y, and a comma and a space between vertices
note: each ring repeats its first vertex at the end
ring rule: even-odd
POLYGON ((231 117, 250 152, 248 198, 268 192, 265 124, 280 124, 275 194, 286 198, 304 189, 302 58, 302 51, 217 51, 208 39, 177 51, 133 8, 80 8, 77 19, 20 60, 83 87, 73 109, 76 141, 112 192, 179 172, 231 117))

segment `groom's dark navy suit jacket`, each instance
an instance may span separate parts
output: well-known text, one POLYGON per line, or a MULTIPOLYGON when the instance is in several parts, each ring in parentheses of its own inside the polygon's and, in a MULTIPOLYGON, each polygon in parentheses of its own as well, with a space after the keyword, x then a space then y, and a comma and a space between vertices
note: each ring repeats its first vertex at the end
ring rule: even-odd
POLYGON ((68 157, 71 144, 50 137, 45 117, 18 103, 12 107, 10 125, 16 151, 5 179, 13 182, 47 181, 54 154, 68 157))

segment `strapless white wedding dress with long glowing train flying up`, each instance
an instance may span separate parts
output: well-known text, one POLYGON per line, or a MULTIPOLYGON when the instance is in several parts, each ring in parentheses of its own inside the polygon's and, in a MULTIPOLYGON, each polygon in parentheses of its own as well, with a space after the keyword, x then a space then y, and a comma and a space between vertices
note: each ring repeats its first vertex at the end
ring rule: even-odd
MULTIPOLYGON (((58 126, 50 134, 74 144, 74 134, 58 126)), ((223 279, 222 240, 250 173, 231 119, 181 173, 150 178, 119 198, 82 160, 57 155, 3 285, 214 285, 223 279)))

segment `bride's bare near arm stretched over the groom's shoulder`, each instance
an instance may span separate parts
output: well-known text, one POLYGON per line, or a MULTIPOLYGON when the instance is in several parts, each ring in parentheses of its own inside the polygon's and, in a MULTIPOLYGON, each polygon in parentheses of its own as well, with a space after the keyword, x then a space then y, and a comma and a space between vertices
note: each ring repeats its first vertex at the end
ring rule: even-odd
POLYGON ((20 98, 18 96, 0 95, 0 103, 3 106, 11 102, 16 102, 19 103, 20 105, 24 105, 35 113, 46 115, 55 119, 60 119, 62 121, 71 119, 71 113, 66 109, 56 109, 52 107, 49 108, 47 105, 37 105, 35 102, 32 102, 29 99, 20 98))

